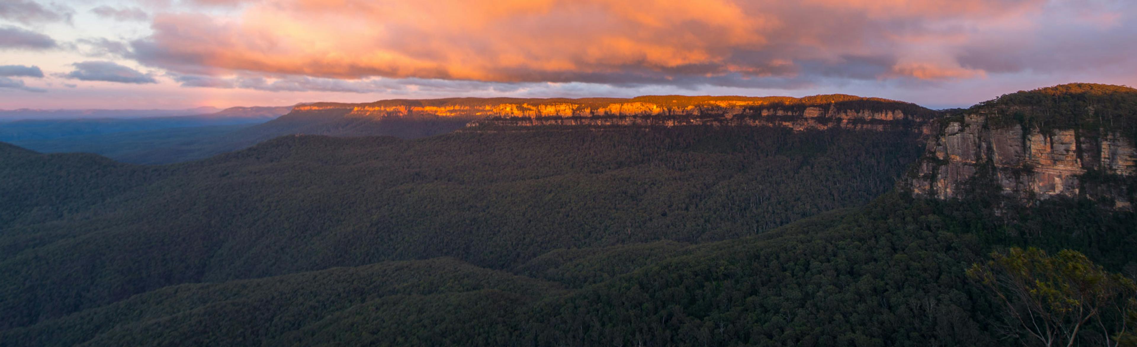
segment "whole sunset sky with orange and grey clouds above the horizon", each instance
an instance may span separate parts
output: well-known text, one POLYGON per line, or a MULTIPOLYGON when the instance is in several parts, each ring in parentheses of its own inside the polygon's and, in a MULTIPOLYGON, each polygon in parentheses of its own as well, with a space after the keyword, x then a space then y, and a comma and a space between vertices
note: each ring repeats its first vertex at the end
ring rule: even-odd
POLYGON ((1134 0, 0 0, 0 109, 1137 85, 1134 0))

